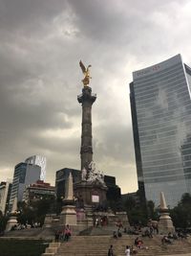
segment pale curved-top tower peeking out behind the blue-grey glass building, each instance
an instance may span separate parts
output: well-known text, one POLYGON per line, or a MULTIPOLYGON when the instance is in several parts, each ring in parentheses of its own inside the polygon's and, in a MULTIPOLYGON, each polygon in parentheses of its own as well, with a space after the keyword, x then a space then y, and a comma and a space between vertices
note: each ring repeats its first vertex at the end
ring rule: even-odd
POLYGON ((26 163, 32 164, 32 165, 38 165, 41 168, 41 173, 40 173, 40 179, 45 180, 46 177, 46 166, 47 166, 47 159, 45 156, 41 155, 32 155, 28 157, 25 160, 26 163))

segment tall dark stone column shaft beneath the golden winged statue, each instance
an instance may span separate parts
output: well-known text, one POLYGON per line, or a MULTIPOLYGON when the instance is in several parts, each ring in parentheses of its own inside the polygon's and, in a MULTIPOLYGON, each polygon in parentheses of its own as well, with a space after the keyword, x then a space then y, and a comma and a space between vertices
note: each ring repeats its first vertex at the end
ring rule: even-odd
POLYGON ((93 160, 92 146, 92 105, 96 101, 96 94, 92 94, 92 88, 84 86, 82 94, 77 96, 77 101, 82 105, 82 124, 81 124, 81 170, 93 160))

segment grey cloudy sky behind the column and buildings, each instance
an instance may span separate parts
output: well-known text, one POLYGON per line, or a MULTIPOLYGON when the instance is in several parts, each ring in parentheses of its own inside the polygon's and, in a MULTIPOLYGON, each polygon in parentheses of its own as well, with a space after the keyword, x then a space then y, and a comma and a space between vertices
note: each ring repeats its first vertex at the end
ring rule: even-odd
POLYGON ((189 0, 0 0, 0 181, 32 154, 47 178, 79 169, 80 59, 92 64, 94 160, 136 191, 132 72, 181 54, 191 65, 189 0))

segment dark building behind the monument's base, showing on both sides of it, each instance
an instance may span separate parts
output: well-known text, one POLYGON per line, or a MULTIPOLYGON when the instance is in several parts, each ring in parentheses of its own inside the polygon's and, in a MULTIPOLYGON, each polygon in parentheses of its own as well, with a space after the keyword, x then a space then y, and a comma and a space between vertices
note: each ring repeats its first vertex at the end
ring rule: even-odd
MULTIPOLYGON (((56 198, 64 198, 65 197, 65 181, 68 178, 70 172, 73 175, 74 183, 81 180, 81 171, 63 168, 56 172, 55 175, 55 195, 56 198)), ((116 177, 104 175, 104 181, 106 186, 108 187, 107 191, 107 199, 108 200, 117 200, 120 198, 120 188, 116 185, 116 177)))

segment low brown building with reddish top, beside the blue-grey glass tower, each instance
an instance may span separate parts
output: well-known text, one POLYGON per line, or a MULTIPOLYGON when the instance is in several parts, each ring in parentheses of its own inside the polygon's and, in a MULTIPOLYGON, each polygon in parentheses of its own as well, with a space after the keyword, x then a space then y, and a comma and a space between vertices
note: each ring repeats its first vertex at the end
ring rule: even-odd
POLYGON ((32 202, 40 199, 52 199, 55 197, 55 187, 43 180, 27 185, 24 190, 23 200, 32 202))

